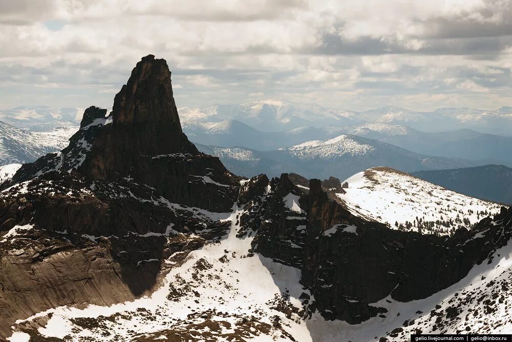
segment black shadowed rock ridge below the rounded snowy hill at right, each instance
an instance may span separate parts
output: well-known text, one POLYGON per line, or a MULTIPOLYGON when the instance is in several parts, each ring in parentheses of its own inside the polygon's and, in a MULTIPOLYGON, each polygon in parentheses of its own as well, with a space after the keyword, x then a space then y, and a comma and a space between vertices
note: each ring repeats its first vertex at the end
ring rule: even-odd
MULTIPOLYGON (((370 303, 388 295, 399 301, 428 297, 455 284, 512 237, 512 228, 493 229, 490 218, 471 232, 459 229, 453 237, 391 230, 353 216, 318 179, 311 179, 309 193, 301 195, 304 214, 294 222, 286 220, 283 197, 301 188, 293 189, 289 182, 286 174, 272 180, 275 193, 267 205, 272 209, 265 212, 253 247, 301 268, 301 284, 315 298, 309 309, 328 319, 356 324, 385 315, 385 309, 370 303)), ((494 222, 506 215, 512 210, 503 210, 494 222)))

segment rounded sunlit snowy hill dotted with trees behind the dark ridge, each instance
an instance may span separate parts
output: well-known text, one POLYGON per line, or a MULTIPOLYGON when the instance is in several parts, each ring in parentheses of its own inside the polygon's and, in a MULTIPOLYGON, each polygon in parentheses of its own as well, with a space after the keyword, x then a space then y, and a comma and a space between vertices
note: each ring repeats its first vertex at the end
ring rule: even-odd
POLYGON ((459 227, 471 228, 501 208, 390 168, 371 168, 345 182, 346 193, 337 196, 349 210, 392 229, 451 234, 459 227))

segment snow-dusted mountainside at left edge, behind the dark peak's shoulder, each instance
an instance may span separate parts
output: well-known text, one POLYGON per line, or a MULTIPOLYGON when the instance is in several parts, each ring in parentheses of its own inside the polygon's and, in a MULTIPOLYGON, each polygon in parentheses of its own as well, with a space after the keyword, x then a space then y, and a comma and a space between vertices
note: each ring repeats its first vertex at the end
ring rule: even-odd
POLYGON ((58 127, 32 132, 0 122, 0 165, 33 162, 36 158, 68 146, 78 127, 58 127))

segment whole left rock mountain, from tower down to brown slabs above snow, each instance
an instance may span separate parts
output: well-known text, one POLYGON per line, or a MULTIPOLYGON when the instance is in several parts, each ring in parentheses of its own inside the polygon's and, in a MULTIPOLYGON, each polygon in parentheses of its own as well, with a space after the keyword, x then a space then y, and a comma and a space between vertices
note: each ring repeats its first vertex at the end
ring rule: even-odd
POLYGON ((163 59, 144 57, 105 114, 88 108, 66 149, 2 185, 0 307, 13 309, 0 336, 52 307, 149 293, 163 259, 179 252, 178 265, 229 226, 212 213, 231 211, 241 178, 181 131, 163 59))

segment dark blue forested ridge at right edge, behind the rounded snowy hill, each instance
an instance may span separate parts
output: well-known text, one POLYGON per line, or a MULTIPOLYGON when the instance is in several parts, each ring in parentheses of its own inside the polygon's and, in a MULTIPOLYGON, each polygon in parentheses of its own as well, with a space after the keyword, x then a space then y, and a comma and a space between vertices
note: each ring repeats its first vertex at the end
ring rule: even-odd
POLYGON ((503 165, 420 171, 413 175, 468 196, 512 204, 512 169, 503 165))

